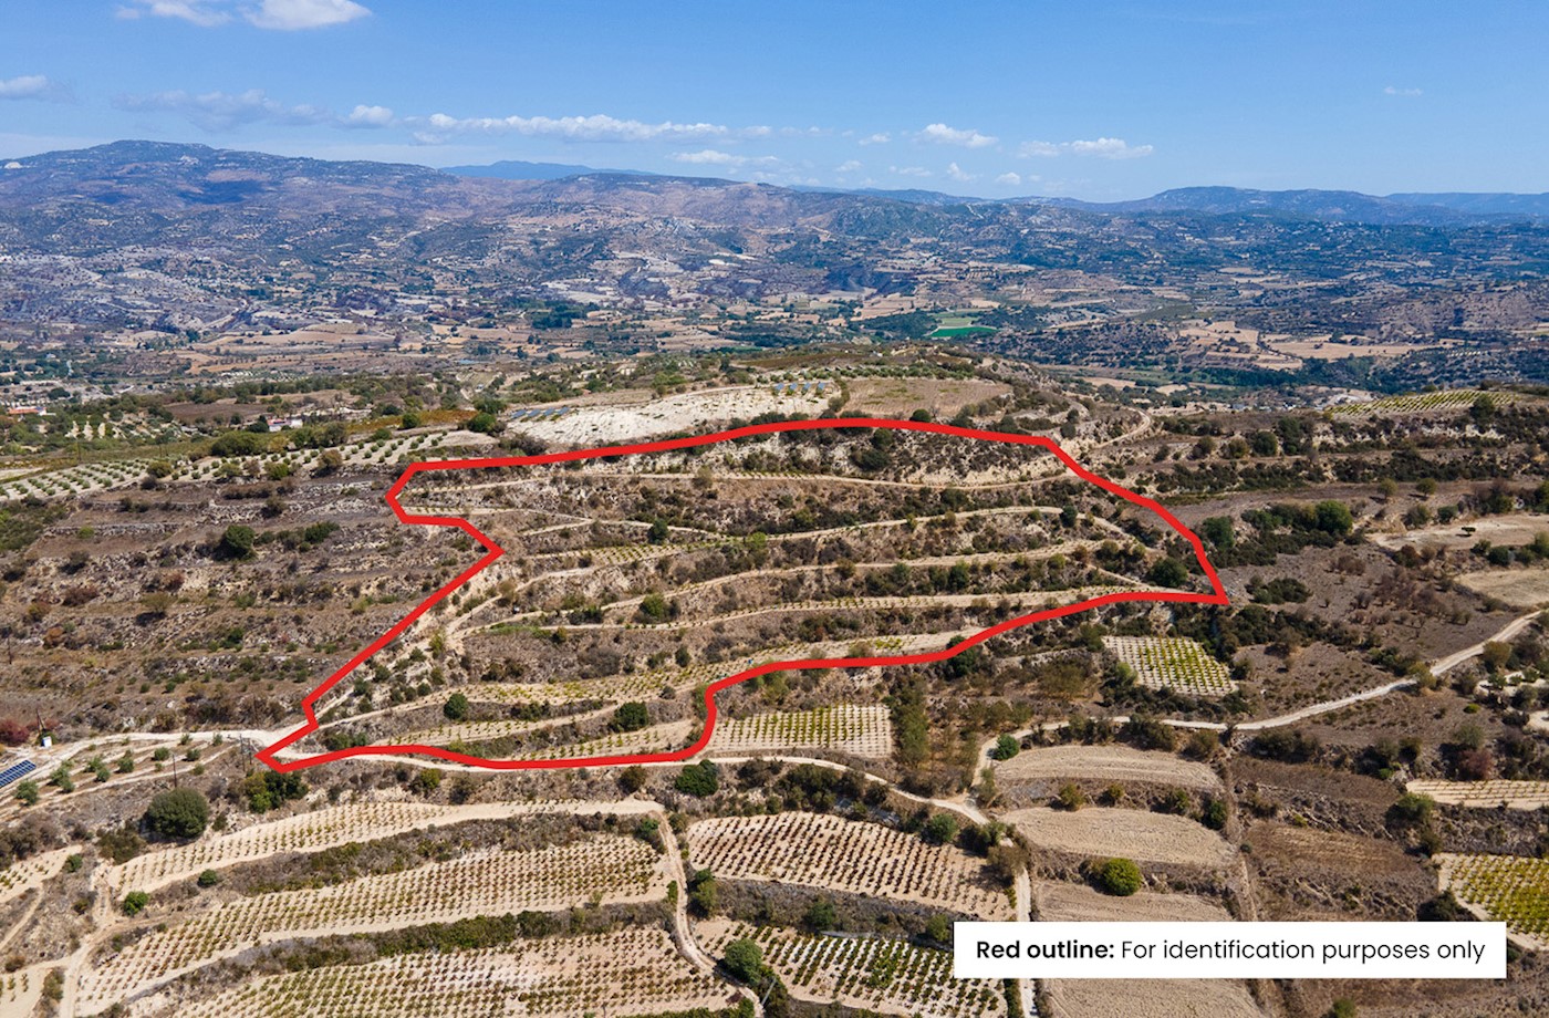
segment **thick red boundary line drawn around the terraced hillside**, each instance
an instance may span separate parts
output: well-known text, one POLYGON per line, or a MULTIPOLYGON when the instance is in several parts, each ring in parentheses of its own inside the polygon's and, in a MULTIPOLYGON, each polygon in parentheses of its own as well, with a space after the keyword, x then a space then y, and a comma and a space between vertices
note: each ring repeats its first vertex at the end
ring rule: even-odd
POLYGON ((387 490, 387 505, 392 507, 393 514, 398 516, 406 524, 421 524, 432 527, 457 527, 469 538, 482 544, 486 555, 477 562, 469 566, 460 576, 452 580, 449 584, 432 593, 418 607, 403 617, 392 629, 384 632, 381 637, 372 641, 364 651, 350 659, 344 668, 328 676, 316 690, 307 694, 301 702, 302 711, 307 714, 307 724, 291 731, 288 736, 276 741, 273 745, 260 750, 257 758, 273 767, 277 772, 301 770, 304 767, 316 767, 318 764, 327 764, 338 759, 345 759, 350 756, 398 756, 404 753, 414 753, 421 756, 435 756, 455 764, 469 764, 474 767, 488 767, 493 770, 550 770, 559 767, 607 767, 612 764, 649 764, 649 762, 672 762, 685 761, 703 750, 709 744, 709 736, 716 730, 716 693, 725 690, 726 686, 734 686, 739 682, 753 679, 754 676, 764 676, 771 671, 796 671, 802 668, 869 668, 875 665, 928 665, 931 662, 942 662, 954 654, 960 654, 968 648, 984 643, 991 637, 998 637, 1002 632, 1008 632, 1019 626, 1027 626, 1035 621, 1042 621, 1046 618, 1061 618, 1064 615, 1073 615, 1077 612, 1084 612, 1089 607, 1100 607, 1103 604, 1118 604, 1123 601, 1163 601, 1163 603, 1185 603, 1185 604, 1228 604, 1225 587, 1221 586, 1221 578, 1216 575, 1216 569, 1205 558, 1205 547, 1200 544, 1199 538, 1188 527, 1180 524, 1173 513, 1165 510, 1157 502, 1135 494, 1128 488, 1123 488, 1112 480, 1098 477, 1092 471, 1086 469, 1069 452, 1061 449, 1052 438, 1044 438, 1041 435, 1016 435, 1005 434, 999 431, 977 431, 974 428, 954 428, 953 425, 936 425, 928 421, 902 421, 902 420, 880 420, 871 417, 841 417, 829 420, 790 420, 776 421, 768 425, 751 425, 748 428, 734 428, 731 431, 717 431, 708 435, 691 435, 688 438, 668 438, 663 442, 644 442, 640 445, 620 445, 601 449, 572 449, 568 452, 545 452, 542 456, 502 456, 493 459, 472 459, 472 460, 435 460, 424 463, 412 463, 401 477, 387 490), (293 742, 305 738, 307 734, 318 730, 318 714, 313 710, 316 702, 331 690, 341 679, 355 671, 361 663, 370 659, 376 651, 383 649, 395 640, 401 632, 404 632, 414 621, 428 612, 438 601, 451 595, 460 586, 468 583, 474 575, 489 566, 493 561, 503 555, 500 545, 486 538, 466 519, 459 519, 454 516, 410 516, 398 505, 398 494, 404 490, 404 485, 414 479, 415 474, 443 469, 482 469, 486 466, 538 466, 542 463, 567 463, 573 460, 593 460, 609 456, 629 456, 632 452, 665 452, 668 449, 686 449, 697 445, 711 445, 717 442, 731 442, 733 438, 747 438, 751 435, 767 435, 778 434, 782 431, 819 431, 823 428, 892 428, 895 431, 928 431, 940 435, 957 435, 962 438, 981 438, 985 442, 1007 442, 1011 445, 1032 445, 1049 449, 1053 452, 1060 462, 1063 462, 1077 477, 1087 480, 1098 488, 1111 494, 1117 494, 1121 499, 1128 499, 1135 505, 1142 505, 1162 519, 1168 522, 1169 527, 1180 536, 1187 538, 1190 544, 1194 545, 1194 556, 1199 559, 1200 569, 1205 576, 1210 578, 1211 593, 1188 593, 1182 590, 1121 590, 1117 593, 1104 593, 1103 597, 1089 598, 1086 601, 1075 601, 1072 604, 1064 604, 1061 607, 1052 607, 1041 612, 1033 612, 1030 615, 1019 615, 1016 618, 1008 618, 996 626, 982 629, 971 637, 963 638, 942 651, 931 651, 928 654, 903 654, 898 657, 841 657, 841 659, 810 659, 801 662, 770 662, 767 665, 759 665, 747 671, 739 671, 734 676, 719 679, 705 688, 705 730, 692 745, 682 750, 671 750, 665 753, 638 753, 626 756, 586 756, 586 758, 568 758, 568 759, 483 759, 479 756, 468 756, 466 753, 454 753, 437 745, 358 745, 344 750, 331 750, 327 753, 318 753, 314 756, 305 756, 294 761, 280 761, 276 753, 291 745, 293 742))

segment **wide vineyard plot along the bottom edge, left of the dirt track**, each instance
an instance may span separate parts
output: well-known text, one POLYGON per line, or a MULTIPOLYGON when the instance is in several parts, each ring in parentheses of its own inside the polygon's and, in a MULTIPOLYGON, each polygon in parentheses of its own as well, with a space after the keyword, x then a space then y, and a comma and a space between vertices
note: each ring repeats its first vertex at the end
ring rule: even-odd
POLYGON ((424 1015, 657 1015, 723 1007, 731 992, 691 968, 665 930, 626 928, 513 947, 397 954, 268 976, 135 1018, 421 1018, 424 1015))

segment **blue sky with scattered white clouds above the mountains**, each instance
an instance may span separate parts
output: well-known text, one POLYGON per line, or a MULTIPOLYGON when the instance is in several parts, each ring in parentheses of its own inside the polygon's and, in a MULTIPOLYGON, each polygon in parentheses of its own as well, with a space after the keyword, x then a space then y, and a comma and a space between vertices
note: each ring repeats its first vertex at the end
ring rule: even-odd
POLYGON ((0 156, 156 138, 996 197, 1540 192, 1546 39, 1532 0, 3 0, 0 156))

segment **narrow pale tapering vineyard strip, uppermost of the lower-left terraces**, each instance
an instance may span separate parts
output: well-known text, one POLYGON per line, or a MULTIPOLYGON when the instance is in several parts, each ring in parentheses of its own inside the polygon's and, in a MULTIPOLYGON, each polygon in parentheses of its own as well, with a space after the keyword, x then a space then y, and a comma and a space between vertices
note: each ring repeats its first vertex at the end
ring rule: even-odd
POLYGON ((220 837, 136 855, 108 869, 115 888, 150 891, 192 877, 201 869, 234 866, 280 852, 316 852, 350 841, 372 841, 429 824, 472 820, 482 810, 432 803, 355 803, 297 813, 220 837))

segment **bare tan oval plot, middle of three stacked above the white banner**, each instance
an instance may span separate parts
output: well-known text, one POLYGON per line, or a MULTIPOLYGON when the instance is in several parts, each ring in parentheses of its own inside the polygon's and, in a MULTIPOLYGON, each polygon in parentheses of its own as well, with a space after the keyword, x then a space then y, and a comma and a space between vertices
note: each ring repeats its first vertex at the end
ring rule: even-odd
POLYGON ((1038 848, 1072 855, 1123 855, 1140 863, 1221 868, 1235 852, 1188 817, 1089 806, 1075 812, 1018 809, 1002 817, 1038 848))

